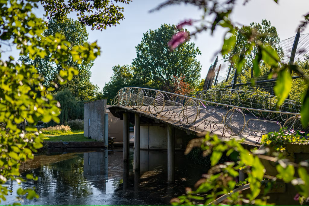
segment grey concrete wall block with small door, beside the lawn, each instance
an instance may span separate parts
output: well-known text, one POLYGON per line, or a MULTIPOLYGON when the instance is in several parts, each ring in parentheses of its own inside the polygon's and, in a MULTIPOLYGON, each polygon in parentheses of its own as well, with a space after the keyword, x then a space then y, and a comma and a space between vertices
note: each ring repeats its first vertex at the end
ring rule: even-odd
POLYGON ((84 136, 104 142, 104 119, 106 112, 106 99, 87 102, 84 104, 84 136), (88 120, 90 119, 90 127, 88 120))

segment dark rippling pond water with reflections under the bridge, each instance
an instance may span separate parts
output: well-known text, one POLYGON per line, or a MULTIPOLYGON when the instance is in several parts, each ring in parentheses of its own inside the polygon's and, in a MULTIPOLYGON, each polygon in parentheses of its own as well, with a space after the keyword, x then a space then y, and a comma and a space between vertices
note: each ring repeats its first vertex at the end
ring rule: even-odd
POLYGON ((33 173, 38 181, 27 180, 19 186, 7 181, 12 189, 7 200, 13 204, 18 187, 35 187, 39 199, 24 200, 22 205, 161 205, 184 194, 185 187, 206 173, 176 151, 175 184, 167 184, 167 151, 141 150, 140 172, 133 170, 133 148, 129 163, 123 162, 122 148, 49 150, 21 165, 22 177, 33 173))

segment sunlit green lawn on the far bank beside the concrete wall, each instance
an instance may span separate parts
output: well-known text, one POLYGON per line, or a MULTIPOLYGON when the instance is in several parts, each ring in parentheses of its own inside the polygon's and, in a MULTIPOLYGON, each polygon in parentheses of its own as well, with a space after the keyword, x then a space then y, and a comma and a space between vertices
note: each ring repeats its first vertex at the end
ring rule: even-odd
POLYGON ((83 130, 48 131, 43 132, 45 142, 94 142, 94 139, 84 137, 83 130))

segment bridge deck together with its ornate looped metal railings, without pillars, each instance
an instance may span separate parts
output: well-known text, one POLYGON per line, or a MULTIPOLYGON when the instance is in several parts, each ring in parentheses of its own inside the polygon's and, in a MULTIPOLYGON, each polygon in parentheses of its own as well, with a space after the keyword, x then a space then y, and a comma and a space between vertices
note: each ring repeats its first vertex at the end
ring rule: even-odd
POLYGON ((158 118, 167 116, 168 120, 172 118, 183 126, 196 128, 208 123, 204 130, 210 126, 211 132, 223 125, 219 130, 225 137, 243 135, 245 127, 252 132, 246 137, 256 137, 256 132, 262 135, 279 131, 282 127, 309 133, 309 127, 303 128, 301 124, 300 105, 285 100, 277 108, 277 101, 276 96, 232 89, 210 89, 187 97, 155 89, 125 87, 118 91, 112 105, 148 110, 152 115, 161 115, 158 118))

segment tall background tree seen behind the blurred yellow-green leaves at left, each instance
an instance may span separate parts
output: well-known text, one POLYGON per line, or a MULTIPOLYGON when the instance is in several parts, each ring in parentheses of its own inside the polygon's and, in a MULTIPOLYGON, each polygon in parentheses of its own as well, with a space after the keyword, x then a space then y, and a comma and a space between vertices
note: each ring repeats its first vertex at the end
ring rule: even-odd
MULTIPOLYGON (((71 43, 71 47, 88 44, 86 27, 73 19, 64 19, 61 23, 58 23, 55 19, 49 20, 48 29, 43 32, 43 36, 55 36, 57 33, 65 36, 66 41, 71 43)), ((49 61, 53 57, 55 57, 55 52, 49 52, 44 59, 37 57, 32 60, 28 55, 21 56, 19 61, 24 64, 35 66, 38 73, 44 77, 43 85, 46 86, 50 81, 55 81, 59 72, 62 70, 60 64, 49 61)), ((58 85, 55 92, 68 88, 73 96, 81 100, 95 99, 95 95, 99 92, 99 88, 90 82, 90 69, 93 66, 93 61, 82 61, 81 64, 78 64, 76 61, 73 61, 72 56, 69 56, 65 64, 78 70, 78 75, 74 76, 67 84, 58 85)))

